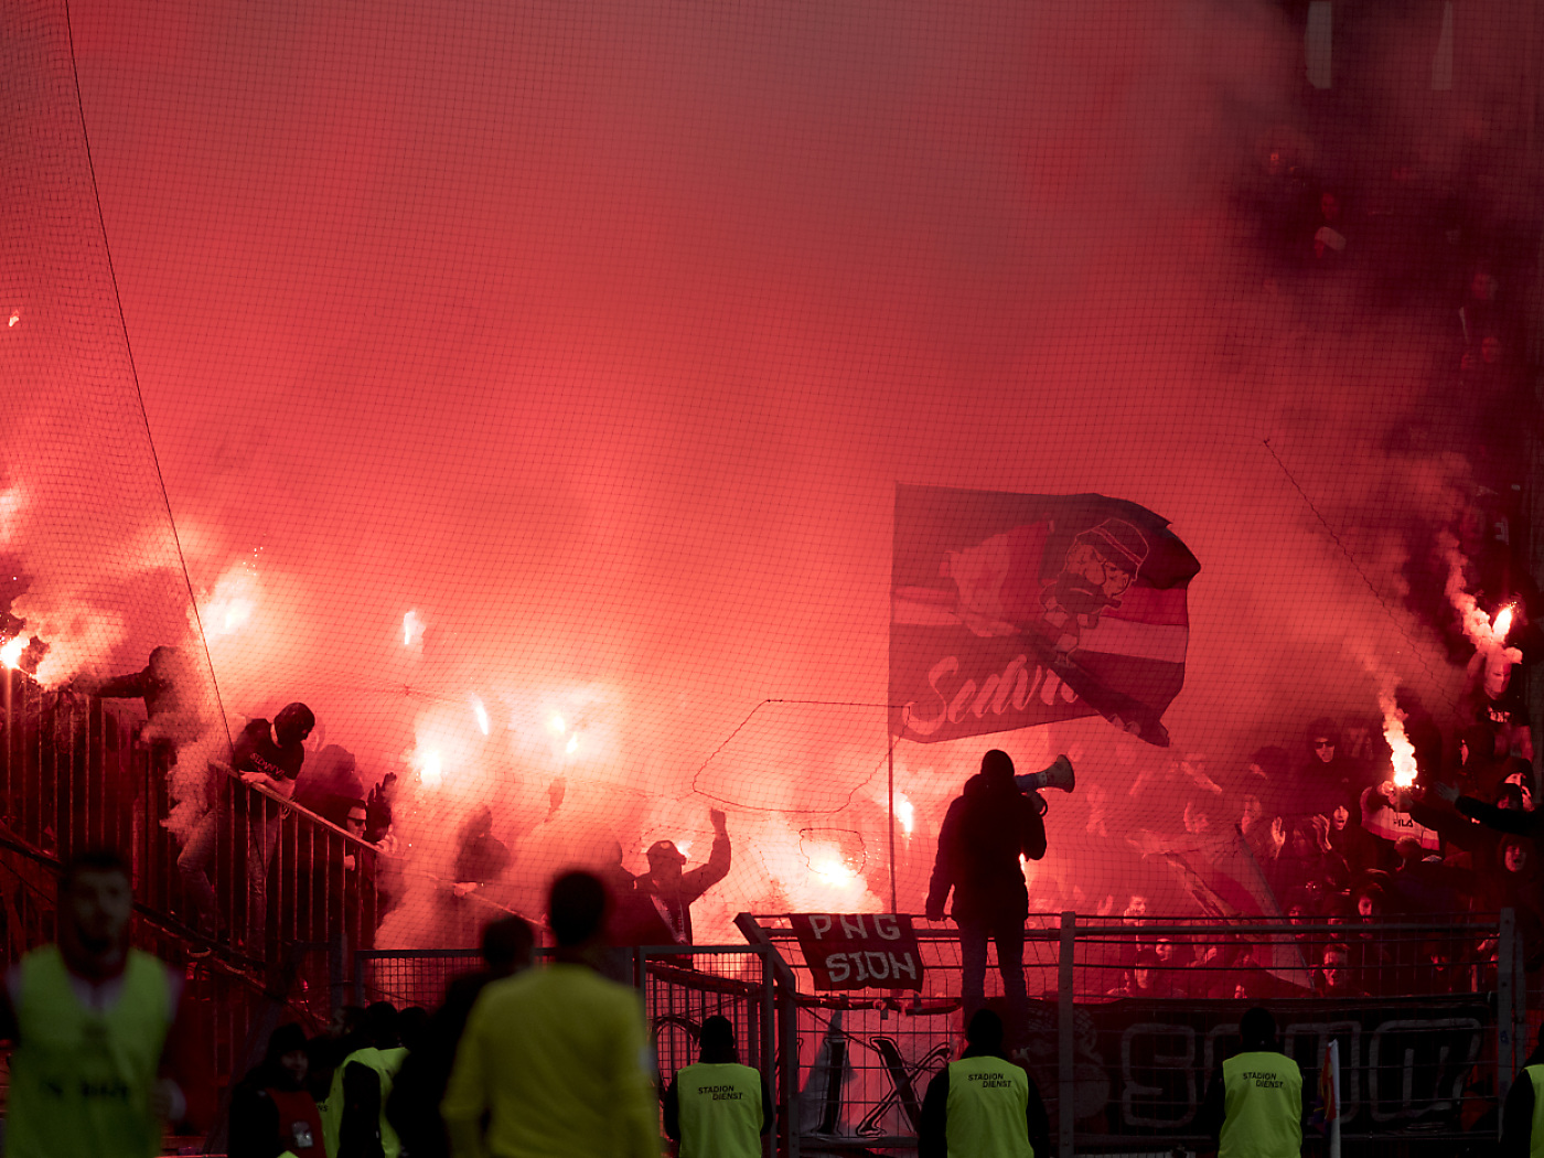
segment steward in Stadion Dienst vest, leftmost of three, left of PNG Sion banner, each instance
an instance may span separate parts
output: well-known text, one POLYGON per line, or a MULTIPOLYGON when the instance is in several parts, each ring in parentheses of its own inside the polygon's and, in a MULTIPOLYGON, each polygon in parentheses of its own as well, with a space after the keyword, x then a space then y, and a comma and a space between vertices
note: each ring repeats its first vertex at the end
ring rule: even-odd
POLYGON ((729 1017, 703 1022, 698 1050, 665 1089, 665 1133, 681 1143, 679 1158, 760 1158, 772 1102, 761 1072, 740 1064, 729 1017))

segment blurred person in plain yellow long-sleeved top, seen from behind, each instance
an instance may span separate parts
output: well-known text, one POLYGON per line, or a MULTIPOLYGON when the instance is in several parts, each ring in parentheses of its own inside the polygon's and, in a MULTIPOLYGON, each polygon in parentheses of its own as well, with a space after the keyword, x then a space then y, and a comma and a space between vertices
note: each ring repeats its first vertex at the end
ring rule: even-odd
POLYGON ((602 948, 605 886, 567 872, 547 908, 553 963, 491 982, 466 1019, 440 1102, 451 1153, 656 1158, 659 1109, 642 1005, 590 965, 602 948))

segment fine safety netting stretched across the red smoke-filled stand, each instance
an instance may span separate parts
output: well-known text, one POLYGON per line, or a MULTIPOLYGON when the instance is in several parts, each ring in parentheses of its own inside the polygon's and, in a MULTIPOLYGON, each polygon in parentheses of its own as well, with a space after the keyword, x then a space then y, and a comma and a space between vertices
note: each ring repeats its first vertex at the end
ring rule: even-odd
POLYGON ((1405 686, 1433 774, 1532 753, 1484 676, 1533 631, 1544 22, 1323 8, 8 3, 0 658, 178 647, 179 837, 310 706, 383 950, 695 868, 712 809, 699 940, 888 909, 892 863, 919 911, 993 746, 1078 769, 1036 911, 1215 916, 1238 820, 1274 903, 1345 894, 1332 808, 1271 834, 1311 733, 1385 778, 1405 686), (892 741, 897 483, 1167 519, 1172 747, 892 741))

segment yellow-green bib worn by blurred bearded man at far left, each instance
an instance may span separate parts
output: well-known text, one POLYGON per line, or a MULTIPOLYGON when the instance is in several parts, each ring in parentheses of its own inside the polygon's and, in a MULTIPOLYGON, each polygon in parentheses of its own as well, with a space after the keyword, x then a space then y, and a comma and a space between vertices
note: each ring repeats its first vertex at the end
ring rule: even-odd
POLYGON ((161 1153, 150 1109, 171 1028, 165 967, 128 951, 113 1008, 80 1004, 57 945, 22 959, 5 1147, 11 1158, 148 1158, 161 1153))

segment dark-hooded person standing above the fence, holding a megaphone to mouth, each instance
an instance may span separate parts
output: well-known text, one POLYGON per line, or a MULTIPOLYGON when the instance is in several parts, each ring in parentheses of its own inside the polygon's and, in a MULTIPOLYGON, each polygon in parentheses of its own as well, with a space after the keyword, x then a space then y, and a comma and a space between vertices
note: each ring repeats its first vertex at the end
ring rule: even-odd
POLYGON ((1039 794, 1025 795, 1013 783, 1008 753, 993 749, 943 815, 926 916, 942 920, 943 905, 954 892, 951 916, 960 933, 960 996, 967 1017, 985 997, 988 939, 997 945, 997 970, 1014 1024, 1028 1008, 1024 920, 1030 914, 1030 894, 1019 857, 1045 855, 1044 812, 1039 794))

